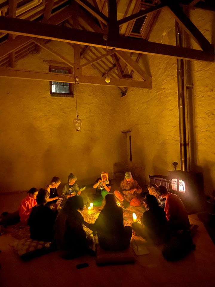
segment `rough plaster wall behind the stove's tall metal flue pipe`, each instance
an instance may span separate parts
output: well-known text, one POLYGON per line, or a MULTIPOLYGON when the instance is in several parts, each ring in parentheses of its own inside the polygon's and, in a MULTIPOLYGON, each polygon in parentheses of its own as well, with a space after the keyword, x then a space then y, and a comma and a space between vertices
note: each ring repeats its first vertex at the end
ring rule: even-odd
MULTIPOLYGON (((214 13, 191 10, 190 19, 213 42, 214 13)), ((162 9, 149 41, 175 45, 174 18, 167 8, 162 9)), ((193 48, 200 49, 192 40, 193 48)), ((178 90, 176 59, 148 55, 142 66, 149 63, 152 90, 128 90, 121 100, 123 129, 132 129, 133 161, 143 167, 142 178, 149 183, 148 175, 168 175, 174 170, 172 163, 180 166, 180 140, 178 116, 178 90)), ((215 64, 192 61, 193 90, 190 101, 193 105, 189 115, 193 126, 191 149, 194 158, 193 171, 203 172, 205 193, 215 190, 215 64)), ((148 67, 145 66, 148 71, 148 67)))

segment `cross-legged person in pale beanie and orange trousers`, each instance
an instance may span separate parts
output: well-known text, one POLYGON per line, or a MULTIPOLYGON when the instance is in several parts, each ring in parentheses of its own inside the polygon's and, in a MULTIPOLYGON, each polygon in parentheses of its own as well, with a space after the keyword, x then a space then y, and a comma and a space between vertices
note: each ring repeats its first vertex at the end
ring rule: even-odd
POLYGON ((142 192, 136 180, 133 179, 130 171, 125 172, 125 178, 120 183, 120 191, 114 190, 114 195, 119 199, 123 208, 131 206, 139 206, 141 201, 137 195, 142 192))

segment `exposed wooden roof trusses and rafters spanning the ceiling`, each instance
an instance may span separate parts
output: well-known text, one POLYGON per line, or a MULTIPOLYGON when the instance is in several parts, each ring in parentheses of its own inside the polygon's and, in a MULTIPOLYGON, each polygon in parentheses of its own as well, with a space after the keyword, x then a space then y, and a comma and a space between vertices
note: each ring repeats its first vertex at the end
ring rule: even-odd
POLYGON ((116 86, 124 95, 128 87, 152 88, 150 68, 147 64, 144 68, 139 65, 140 58, 147 54, 214 62, 213 46, 182 9, 185 5, 195 9, 199 1, 146 2, 9 0, 0 4, 0 77, 70 83, 74 83, 75 77, 78 77, 79 83, 116 86), (200 49, 148 41, 151 29, 164 7, 168 7, 174 19, 200 49), (138 22, 140 26, 136 31, 138 19, 142 22, 138 22), (48 45, 51 40, 70 43, 71 49, 74 49, 74 61, 51 49, 48 45), (19 59, 40 49, 46 49, 59 59, 58 62, 45 59, 45 62, 56 66, 67 65, 73 73, 16 70, 19 59), (100 77, 86 74, 85 68, 90 65, 100 77), (107 71, 110 83, 105 82, 107 71))

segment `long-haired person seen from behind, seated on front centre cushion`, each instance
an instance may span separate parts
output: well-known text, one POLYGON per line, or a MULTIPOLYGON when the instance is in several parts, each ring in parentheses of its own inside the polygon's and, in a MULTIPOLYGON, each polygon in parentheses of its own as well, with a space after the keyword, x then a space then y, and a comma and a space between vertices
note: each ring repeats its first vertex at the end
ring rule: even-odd
POLYGON ((116 204, 114 194, 105 196, 105 206, 94 224, 87 226, 97 232, 99 245, 104 250, 120 251, 129 247, 132 228, 123 224, 123 209, 116 204))

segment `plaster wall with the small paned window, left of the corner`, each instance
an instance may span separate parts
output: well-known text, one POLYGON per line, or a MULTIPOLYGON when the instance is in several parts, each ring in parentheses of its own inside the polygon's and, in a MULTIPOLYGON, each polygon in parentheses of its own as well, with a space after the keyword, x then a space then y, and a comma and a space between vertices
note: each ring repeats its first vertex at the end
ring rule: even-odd
MULTIPOLYGON (((72 60, 73 48, 67 43, 49 45, 72 60)), ((16 69, 48 71, 43 59, 59 61, 41 50, 21 59, 16 69)), ((93 183, 102 171, 112 176, 113 163, 126 152, 120 146, 117 88, 77 84, 82 129, 76 132, 75 97, 51 97, 47 81, 0 78, 0 86, 1 192, 40 188, 53 176, 61 178, 60 189, 70 172, 79 184, 93 183)))

